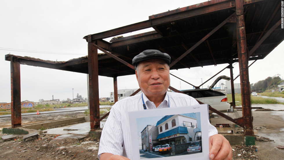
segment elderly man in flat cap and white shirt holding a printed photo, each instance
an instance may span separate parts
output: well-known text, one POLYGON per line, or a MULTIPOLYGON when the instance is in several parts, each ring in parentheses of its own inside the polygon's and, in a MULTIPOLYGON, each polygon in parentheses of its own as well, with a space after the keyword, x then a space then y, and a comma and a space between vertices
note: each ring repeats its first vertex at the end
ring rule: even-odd
MULTIPOLYGON (((167 92, 170 86, 170 56, 158 50, 145 50, 132 60, 136 79, 142 91, 112 106, 101 134, 98 157, 101 160, 129 160, 132 158, 128 112, 179 106, 199 105, 192 97, 167 92)), ((209 157, 232 159, 230 143, 214 126, 209 125, 209 157)))

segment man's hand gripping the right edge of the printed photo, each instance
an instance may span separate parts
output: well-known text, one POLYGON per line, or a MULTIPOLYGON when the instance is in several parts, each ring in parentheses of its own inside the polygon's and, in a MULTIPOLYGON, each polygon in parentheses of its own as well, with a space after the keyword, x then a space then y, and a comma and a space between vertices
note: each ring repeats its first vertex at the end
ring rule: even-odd
POLYGON ((214 134, 209 137, 209 157, 212 160, 231 160, 232 147, 229 141, 221 134, 214 134))

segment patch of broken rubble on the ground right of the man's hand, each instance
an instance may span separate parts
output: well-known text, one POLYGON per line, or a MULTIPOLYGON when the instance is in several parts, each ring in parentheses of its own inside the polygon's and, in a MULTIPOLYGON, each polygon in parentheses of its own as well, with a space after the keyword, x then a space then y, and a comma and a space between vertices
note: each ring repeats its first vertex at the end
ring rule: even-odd
POLYGON ((255 146, 234 145, 233 160, 261 160, 256 156, 257 148, 255 146))

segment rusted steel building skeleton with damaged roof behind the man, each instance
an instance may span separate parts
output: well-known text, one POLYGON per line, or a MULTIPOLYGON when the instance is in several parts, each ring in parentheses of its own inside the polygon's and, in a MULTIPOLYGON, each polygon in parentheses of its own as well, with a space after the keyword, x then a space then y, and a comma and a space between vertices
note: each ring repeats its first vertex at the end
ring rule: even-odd
MULTIPOLYGON (((127 21, 127 17, 122 19, 127 21)), ((254 144, 248 62, 253 61, 252 65, 264 59, 283 41, 284 30, 281 26, 280 0, 212 0, 151 15, 148 20, 138 23, 89 34, 83 37, 88 43, 88 56, 85 57, 57 62, 7 54, 5 59, 11 62, 12 127, 21 126, 20 64, 88 74, 90 126, 91 131, 96 131, 105 118, 99 115, 98 76, 113 77, 116 102, 117 77, 135 73, 131 65, 135 55, 146 49, 157 49, 171 56, 170 69, 228 64, 223 70, 230 69, 232 93, 234 80, 238 77, 233 77, 232 64, 238 62, 243 117, 233 119, 214 108, 209 109, 243 127, 246 144, 254 144), (153 28, 153 31, 120 36, 146 28, 153 28), (120 38, 110 42, 104 40, 114 36, 120 38), (98 54, 98 50, 103 54, 98 54)), ((191 85, 199 88, 203 84, 191 85)), ((171 86, 170 89, 180 92, 171 86)), ((232 98, 235 107, 234 94, 232 98)))

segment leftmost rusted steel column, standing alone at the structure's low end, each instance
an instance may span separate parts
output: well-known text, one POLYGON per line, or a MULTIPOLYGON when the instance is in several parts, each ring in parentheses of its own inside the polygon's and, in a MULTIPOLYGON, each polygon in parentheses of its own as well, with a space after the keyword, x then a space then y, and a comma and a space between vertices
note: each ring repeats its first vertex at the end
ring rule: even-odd
POLYGON ((10 55, 11 70, 11 123, 12 128, 22 125, 21 117, 21 70, 20 63, 14 62, 17 59, 10 55))

